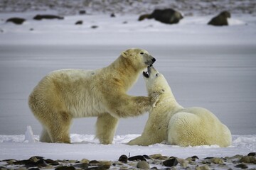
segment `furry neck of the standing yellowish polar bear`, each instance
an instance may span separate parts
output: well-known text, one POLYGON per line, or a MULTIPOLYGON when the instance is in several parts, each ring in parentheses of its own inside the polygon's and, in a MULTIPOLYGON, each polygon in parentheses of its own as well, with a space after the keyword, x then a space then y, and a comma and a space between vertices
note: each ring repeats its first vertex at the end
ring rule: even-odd
POLYGON ((122 57, 122 55, 107 68, 110 68, 111 72, 115 73, 112 74, 112 76, 114 76, 115 79, 119 79, 126 90, 134 85, 139 78, 140 72, 142 72, 142 70, 136 68, 132 62, 122 57))

